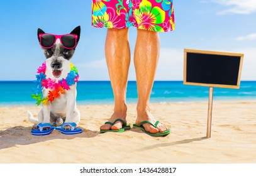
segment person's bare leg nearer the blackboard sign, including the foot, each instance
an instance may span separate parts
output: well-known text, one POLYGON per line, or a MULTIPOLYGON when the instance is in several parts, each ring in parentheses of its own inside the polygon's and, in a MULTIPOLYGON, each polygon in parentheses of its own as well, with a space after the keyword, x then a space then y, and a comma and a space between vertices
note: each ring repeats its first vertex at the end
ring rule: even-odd
MULTIPOLYGON (((150 113, 149 99, 153 87, 153 80, 159 60, 160 39, 159 34, 154 31, 137 30, 134 64, 138 86, 138 104, 136 124, 142 121, 154 121, 150 113)), ((150 133, 164 132, 167 130, 163 124, 154 128, 151 124, 143 124, 146 131, 150 133)))

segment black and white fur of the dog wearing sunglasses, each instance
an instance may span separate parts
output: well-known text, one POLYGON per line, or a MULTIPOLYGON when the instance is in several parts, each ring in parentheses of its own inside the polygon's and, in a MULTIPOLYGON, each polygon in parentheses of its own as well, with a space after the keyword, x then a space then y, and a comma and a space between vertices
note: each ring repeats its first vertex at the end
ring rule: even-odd
MULTIPOLYGON (((77 35, 77 43, 80 38, 80 26, 77 26, 70 34, 77 35)), ((45 33, 43 30, 38 28, 38 40, 39 35, 45 33)), ((47 69, 45 72, 46 78, 55 80, 65 79, 67 74, 70 72, 70 58, 74 55, 75 48, 72 50, 65 49, 57 39, 56 43, 52 48, 42 48, 45 54, 47 69)), ((70 86, 69 91, 65 91, 65 94, 60 95, 53 102, 47 102, 43 105, 43 108, 38 113, 38 120, 33 118, 30 111, 27 112, 28 119, 35 125, 32 129, 36 128, 38 123, 50 123, 53 126, 60 126, 62 123, 76 123, 80 122, 80 112, 76 107, 76 83, 70 86)), ((49 89, 43 88, 43 97, 48 96, 49 89)), ((66 129, 70 129, 70 126, 65 126, 66 129)))

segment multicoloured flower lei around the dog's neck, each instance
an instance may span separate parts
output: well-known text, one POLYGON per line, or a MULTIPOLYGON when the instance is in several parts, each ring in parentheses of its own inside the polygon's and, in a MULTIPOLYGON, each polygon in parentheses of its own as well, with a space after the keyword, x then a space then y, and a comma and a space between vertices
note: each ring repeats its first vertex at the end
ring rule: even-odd
POLYGON ((70 63, 70 72, 67 74, 67 77, 62 80, 55 80, 55 79, 46 79, 45 75, 46 70, 46 63, 44 62, 41 67, 37 69, 38 75, 36 75, 36 88, 32 89, 33 94, 31 94, 31 97, 33 99, 36 99, 36 104, 39 106, 41 102, 45 105, 48 101, 52 102, 55 98, 60 97, 60 94, 64 94, 65 90, 70 90, 70 85, 75 84, 75 82, 78 82, 79 74, 77 68, 74 66, 73 63, 70 63), (46 89, 51 89, 52 91, 48 92, 47 97, 42 97, 42 90, 43 87, 46 89))

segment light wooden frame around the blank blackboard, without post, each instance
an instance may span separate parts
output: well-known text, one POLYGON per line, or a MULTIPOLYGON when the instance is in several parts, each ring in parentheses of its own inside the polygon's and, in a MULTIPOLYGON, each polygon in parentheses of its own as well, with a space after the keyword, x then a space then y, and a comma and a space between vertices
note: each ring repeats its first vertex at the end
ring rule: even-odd
POLYGON ((242 74, 242 65, 243 65, 243 54, 242 53, 228 53, 228 52, 214 52, 214 51, 206 51, 206 50, 184 49, 184 84, 201 85, 201 86, 207 86, 207 87, 223 87, 223 88, 239 89, 240 79, 241 79, 241 74, 242 74), (231 57, 240 57, 240 65, 239 65, 240 67, 239 67, 239 72, 238 72, 237 85, 187 82, 187 53, 201 53, 201 54, 209 54, 209 55, 224 55, 224 56, 231 56, 231 57))

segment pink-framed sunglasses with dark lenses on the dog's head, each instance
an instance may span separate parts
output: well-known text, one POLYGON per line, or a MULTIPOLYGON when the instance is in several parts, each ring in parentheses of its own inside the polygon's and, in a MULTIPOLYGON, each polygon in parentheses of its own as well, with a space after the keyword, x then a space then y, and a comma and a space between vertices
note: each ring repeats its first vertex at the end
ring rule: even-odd
POLYGON ((56 43, 57 39, 60 39, 63 47, 66 49, 73 49, 77 45, 77 35, 74 34, 64 34, 64 35, 54 35, 50 33, 42 33, 39 35, 40 45, 43 48, 52 48, 56 43))

